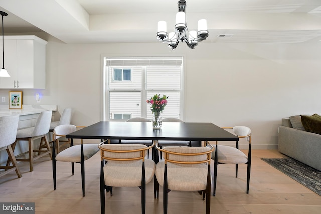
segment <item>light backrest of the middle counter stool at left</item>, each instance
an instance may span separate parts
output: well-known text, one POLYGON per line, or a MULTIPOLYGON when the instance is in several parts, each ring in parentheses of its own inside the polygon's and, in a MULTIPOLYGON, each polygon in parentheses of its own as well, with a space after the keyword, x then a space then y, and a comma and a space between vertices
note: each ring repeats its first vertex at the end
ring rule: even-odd
POLYGON ((32 133, 33 137, 44 135, 49 132, 51 117, 52 117, 52 110, 43 111, 39 114, 35 124, 34 131, 32 133))

